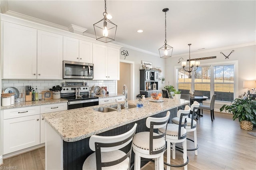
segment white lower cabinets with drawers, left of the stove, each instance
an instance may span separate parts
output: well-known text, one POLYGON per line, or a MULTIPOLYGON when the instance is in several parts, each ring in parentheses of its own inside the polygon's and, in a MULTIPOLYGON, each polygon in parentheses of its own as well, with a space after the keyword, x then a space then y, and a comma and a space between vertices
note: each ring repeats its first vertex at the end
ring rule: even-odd
POLYGON ((1 110, 3 154, 43 144, 45 142, 45 120, 40 113, 67 109, 68 103, 56 103, 1 110))

